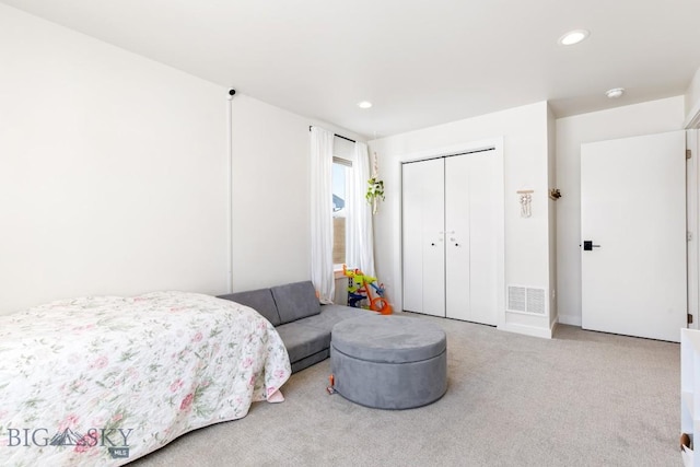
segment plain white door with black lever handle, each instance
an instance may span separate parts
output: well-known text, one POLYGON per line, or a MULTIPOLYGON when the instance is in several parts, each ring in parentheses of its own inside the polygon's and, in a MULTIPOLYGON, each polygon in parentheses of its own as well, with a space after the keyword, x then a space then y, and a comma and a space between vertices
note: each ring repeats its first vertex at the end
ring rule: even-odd
POLYGON ((581 145, 584 329, 680 340, 685 149, 684 131, 581 145))

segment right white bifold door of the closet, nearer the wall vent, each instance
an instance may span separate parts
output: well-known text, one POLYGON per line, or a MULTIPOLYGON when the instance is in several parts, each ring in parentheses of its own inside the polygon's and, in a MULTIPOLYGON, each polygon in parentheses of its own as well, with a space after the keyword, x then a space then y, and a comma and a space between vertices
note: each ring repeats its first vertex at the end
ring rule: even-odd
POLYGON ((495 151, 445 159, 445 314, 498 320, 499 179, 495 151))

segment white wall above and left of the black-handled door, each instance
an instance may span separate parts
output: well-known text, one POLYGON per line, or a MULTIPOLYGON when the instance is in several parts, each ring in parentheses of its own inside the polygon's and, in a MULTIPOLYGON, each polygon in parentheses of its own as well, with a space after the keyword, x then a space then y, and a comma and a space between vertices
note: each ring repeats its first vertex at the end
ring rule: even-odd
POLYGON ((684 97, 557 120, 557 282, 559 322, 581 325, 581 144, 682 129, 684 97))

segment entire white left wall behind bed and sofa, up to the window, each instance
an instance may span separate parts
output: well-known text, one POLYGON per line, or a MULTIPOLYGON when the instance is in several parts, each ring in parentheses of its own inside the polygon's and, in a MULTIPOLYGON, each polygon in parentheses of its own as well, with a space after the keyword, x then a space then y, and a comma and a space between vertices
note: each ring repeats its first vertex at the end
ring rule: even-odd
MULTIPOLYGON (((228 89, 0 5, 0 314, 230 289, 228 89)), ((310 125, 232 101, 233 290, 310 277, 310 125)))

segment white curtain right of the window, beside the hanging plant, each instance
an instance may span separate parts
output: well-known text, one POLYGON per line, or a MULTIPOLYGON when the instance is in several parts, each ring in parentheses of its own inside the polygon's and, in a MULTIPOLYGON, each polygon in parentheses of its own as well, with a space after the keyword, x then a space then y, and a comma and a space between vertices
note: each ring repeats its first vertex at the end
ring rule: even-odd
POLYGON ((351 173, 346 203, 348 207, 346 259, 349 268, 359 268, 366 276, 374 277, 372 206, 364 198, 370 179, 370 154, 368 145, 363 142, 354 143, 351 173))

